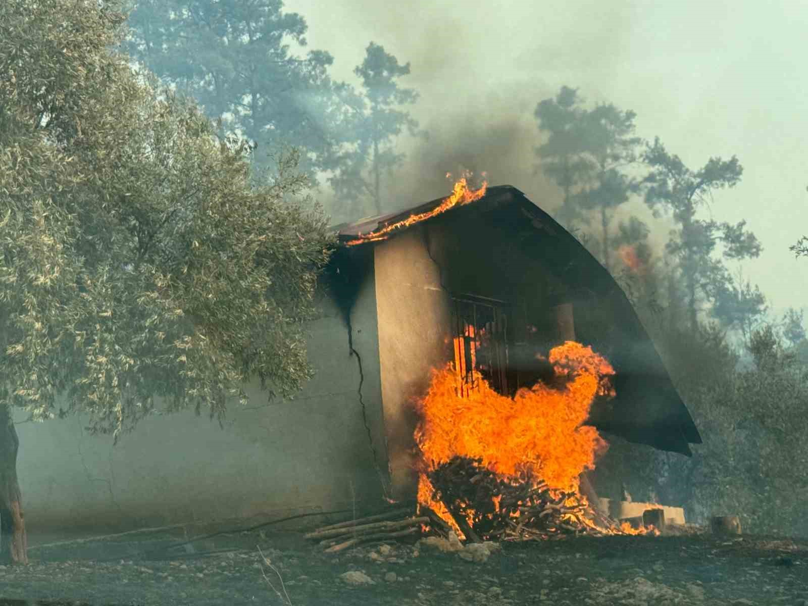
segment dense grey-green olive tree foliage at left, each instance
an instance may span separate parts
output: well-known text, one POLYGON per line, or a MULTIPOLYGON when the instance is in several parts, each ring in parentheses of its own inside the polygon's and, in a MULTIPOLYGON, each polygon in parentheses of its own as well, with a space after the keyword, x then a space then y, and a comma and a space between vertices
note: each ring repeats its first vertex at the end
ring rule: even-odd
POLYGON ((114 2, 0 3, 0 406, 122 432, 293 393, 330 250, 294 154, 249 145, 114 47, 114 2))

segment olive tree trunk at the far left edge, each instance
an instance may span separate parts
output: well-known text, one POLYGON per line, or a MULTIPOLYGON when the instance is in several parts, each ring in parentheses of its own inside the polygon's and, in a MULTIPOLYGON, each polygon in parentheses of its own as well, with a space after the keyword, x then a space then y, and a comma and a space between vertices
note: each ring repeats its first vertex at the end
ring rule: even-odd
POLYGON ((19 438, 11 410, 0 404, 0 559, 27 564, 22 495, 17 482, 19 438))

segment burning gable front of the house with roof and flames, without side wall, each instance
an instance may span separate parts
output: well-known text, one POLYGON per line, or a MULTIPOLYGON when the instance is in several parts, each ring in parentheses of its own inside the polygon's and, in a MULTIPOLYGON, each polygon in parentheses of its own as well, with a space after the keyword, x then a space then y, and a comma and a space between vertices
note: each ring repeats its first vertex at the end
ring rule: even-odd
POLYGON ((333 297, 352 335, 374 335, 354 353, 377 368, 364 406, 381 408, 373 451, 392 499, 440 507, 428 478, 459 458, 592 495, 579 478, 599 432, 685 455, 701 443, 625 293, 515 187, 461 180, 446 199, 338 229, 333 297))

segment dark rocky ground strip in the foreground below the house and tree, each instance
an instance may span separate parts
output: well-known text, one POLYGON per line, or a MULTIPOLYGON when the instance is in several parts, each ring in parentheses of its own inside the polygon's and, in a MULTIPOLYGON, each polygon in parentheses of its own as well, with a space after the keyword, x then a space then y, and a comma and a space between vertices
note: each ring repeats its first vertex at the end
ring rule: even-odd
POLYGON ((0 604, 808 606, 808 541, 579 537, 477 552, 375 545, 327 556, 300 532, 255 531, 166 556, 162 548, 177 540, 173 532, 34 545, 29 566, 0 567, 0 604))

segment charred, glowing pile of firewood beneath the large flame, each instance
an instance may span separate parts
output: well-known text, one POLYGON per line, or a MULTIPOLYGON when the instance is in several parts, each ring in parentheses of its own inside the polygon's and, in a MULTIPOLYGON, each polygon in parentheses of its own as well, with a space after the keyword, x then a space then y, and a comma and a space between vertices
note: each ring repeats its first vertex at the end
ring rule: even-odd
POLYGON ((444 504, 469 541, 603 534, 593 521, 613 528, 612 520, 585 503, 567 503, 571 494, 551 491, 529 473, 519 481, 506 481, 479 459, 454 457, 427 477, 435 489, 432 498, 444 504))

